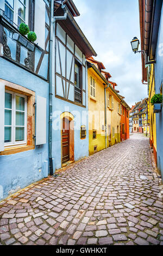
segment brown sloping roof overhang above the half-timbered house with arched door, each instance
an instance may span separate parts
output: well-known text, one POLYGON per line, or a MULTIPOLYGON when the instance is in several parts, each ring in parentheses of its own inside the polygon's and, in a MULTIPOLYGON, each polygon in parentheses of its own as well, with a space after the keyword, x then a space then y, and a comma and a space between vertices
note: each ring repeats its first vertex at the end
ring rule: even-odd
MULTIPOLYGON (((59 7, 54 16, 63 16, 64 11, 61 7, 59 7)), ((58 20, 59 25, 64 29, 64 31, 69 35, 69 37, 73 40, 73 42, 78 46, 80 51, 84 53, 86 58, 93 56, 97 56, 97 53, 86 39, 85 35, 83 34, 82 30, 78 26, 77 22, 74 20, 71 13, 68 11, 67 19, 66 20, 58 20)))

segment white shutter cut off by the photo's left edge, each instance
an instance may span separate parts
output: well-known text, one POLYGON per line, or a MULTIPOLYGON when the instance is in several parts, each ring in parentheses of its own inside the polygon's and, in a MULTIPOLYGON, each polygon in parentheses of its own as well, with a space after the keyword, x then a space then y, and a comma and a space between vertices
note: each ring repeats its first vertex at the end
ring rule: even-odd
POLYGON ((4 151, 4 90, 5 85, 0 82, 0 151, 4 151))

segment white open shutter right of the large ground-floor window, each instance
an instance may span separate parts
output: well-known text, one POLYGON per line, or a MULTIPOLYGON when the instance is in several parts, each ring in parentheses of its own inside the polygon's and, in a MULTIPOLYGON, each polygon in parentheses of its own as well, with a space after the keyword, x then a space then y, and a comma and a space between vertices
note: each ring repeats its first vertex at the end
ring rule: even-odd
POLYGON ((46 98, 36 100, 36 145, 46 144, 46 98))

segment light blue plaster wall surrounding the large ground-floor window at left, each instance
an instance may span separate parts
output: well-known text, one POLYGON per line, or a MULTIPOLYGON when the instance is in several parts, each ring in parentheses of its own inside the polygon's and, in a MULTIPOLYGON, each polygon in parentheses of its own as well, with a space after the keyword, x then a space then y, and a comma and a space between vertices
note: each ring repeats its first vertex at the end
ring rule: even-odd
POLYGON ((0 156, 0 200, 9 192, 43 178, 43 161, 48 160, 48 83, 0 57, 0 78, 33 90, 47 98, 47 144, 35 150, 0 156), (39 172, 39 170, 41 170, 39 172))

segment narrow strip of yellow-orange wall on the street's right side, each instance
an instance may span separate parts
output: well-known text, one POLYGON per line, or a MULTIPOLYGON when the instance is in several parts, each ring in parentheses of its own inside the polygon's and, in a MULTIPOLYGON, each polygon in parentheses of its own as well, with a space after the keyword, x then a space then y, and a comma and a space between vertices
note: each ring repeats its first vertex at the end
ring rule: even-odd
POLYGON ((153 113, 153 106, 151 105, 151 99, 155 94, 154 90, 154 64, 151 64, 151 73, 149 76, 149 122, 150 122, 150 140, 153 140, 153 145, 156 150, 156 118, 153 113), (153 134, 153 136, 152 136, 153 134))

